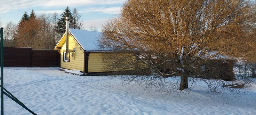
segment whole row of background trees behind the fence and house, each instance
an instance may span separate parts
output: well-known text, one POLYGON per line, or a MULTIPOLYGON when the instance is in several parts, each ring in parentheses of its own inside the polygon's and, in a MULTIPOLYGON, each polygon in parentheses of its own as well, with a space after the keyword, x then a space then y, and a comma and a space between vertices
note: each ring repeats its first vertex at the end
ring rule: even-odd
POLYGON ((70 18, 69 28, 84 29, 82 14, 78 9, 66 7, 59 16, 54 13, 25 11, 18 24, 10 21, 4 27, 5 47, 32 47, 33 49, 53 49, 66 31, 66 17, 70 18))

